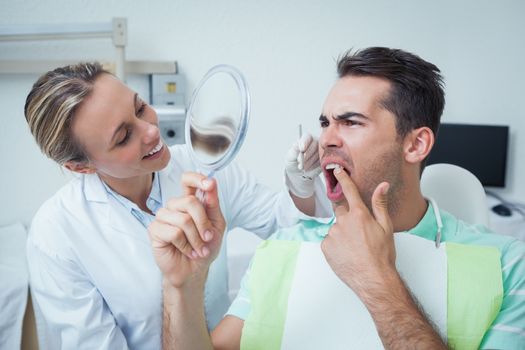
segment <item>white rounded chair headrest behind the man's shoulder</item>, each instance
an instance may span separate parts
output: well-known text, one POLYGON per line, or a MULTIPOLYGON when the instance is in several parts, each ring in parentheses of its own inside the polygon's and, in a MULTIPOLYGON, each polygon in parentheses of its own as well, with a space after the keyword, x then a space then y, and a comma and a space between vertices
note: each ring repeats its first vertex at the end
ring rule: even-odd
POLYGON ((421 176, 421 191, 458 219, 488 227, 485 190, 470 171, 453 164, 428 165, 421 176))

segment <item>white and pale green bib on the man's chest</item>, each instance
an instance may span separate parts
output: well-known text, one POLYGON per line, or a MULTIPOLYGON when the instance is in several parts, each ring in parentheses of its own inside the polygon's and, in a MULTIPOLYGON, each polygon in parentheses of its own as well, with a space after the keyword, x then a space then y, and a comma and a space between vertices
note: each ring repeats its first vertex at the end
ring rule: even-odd
MULTIPOLYGON (((408 233, 395 242, 397 269, 438 332, 456 349, 478 348, 502 302, 499 250, 436 248, 408 233)), ((318 242, 263 242, 248 283, 251 312, 241 349, 383 348, 368 311, 333 273, 318 242)))

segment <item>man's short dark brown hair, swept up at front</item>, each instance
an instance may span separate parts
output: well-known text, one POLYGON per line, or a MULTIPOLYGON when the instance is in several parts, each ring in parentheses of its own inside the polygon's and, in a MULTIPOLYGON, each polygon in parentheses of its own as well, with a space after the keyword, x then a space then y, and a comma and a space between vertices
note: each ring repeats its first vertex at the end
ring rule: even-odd
POLYGON ((351 51, 337 62, 339 77, 373 76, 388 80, 391 90, 381 104, 396 116, 399 136, 422 126, 437 135, 445 107, 443 77, 438 67, 399 49, 370 47, 351 51))

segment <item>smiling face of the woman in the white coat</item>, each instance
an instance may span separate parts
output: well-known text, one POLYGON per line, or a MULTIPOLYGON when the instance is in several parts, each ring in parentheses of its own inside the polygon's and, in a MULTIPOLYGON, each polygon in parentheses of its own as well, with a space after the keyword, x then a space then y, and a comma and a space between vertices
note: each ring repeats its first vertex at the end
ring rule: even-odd
POLYGON ((103 178, 133 178, 164 168, 170 159, 155 111, 109 74, 99 76, 73 119, 74 137, 103 178))

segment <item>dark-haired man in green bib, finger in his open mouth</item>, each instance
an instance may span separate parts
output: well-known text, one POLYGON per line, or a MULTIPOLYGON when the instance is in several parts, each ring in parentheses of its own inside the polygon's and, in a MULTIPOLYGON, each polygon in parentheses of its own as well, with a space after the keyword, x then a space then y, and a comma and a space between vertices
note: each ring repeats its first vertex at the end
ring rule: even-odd
MULTIPOLYGON (((169 232, 191 236, 188 226, 178 224, 181 220, 165 216, 150 227, 164 274, 164 347, 294 348, 287 338, 294 327, 314 330, 301 334, 308 347, 309 339, 326 337, 324 326, 344 329, 341 317, 346 317, 348 332, 335 335, 337 348, 376 344, 370 340, 376 337, 378 346, 387 349, 524 349, 525 244, 481 232, 421 194, 421 172, 445 103, 439 69, 411 53, 379 47, 347 53, 337 69, 339 79, 319 117, 319 157, 335 219, 303 221, 264 242, 239 295, 210 336, 203 289, 224 220, 216 184, 206 187, 197 177, 187 177, 187 197, 195 188, 212 190, 204 207, 187 198, 174 202, 172 216, 189 214, 198 231, 211 230, 212 254, 187 258, 170 244, 169 232), (337 324, 330 310, 328 319, 326 312, 323 319, 315 317, 315 301, 299 302, 303 320, 301 310, 292 315, 295 296, 311 292, 297 290, 300 256, 308 244, 322 251, 318 265, 328 266, 325 274, 337 276, 342 281, 338 288, 357 300, 335 300, 337 305, 344 299, 356 310, 339 313, 337 324), (409 269, 425 271, 427 265, 437 269, 410 277, 409 269), (293 324, 297 320, 306 328, 293 324), (351 325, 363 325, 364 333, 355 334, 351 325)), ((311 286, 315 290, 315 281, 311 286)), ((322 297, 319 305, 324 305, 322 297)))

